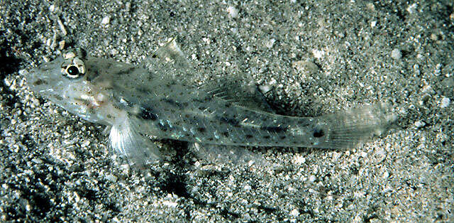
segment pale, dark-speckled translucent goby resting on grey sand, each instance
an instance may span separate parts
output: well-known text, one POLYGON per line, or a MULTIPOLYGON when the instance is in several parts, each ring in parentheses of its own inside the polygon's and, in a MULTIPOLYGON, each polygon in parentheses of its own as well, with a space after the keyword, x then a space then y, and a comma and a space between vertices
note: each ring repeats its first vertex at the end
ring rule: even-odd
POLYGON ((30 89, 86 121, 106 125, 109 144, 133 165, 162 161, 153 139, 205 152, 243 146, 354 148, 395 121, 384 103, 316 117, 275 114, 254 83, 235 75, 196 85, 200 75, 175 38, 143 65, 66 50, 26 75, 30 89))

